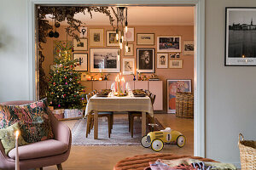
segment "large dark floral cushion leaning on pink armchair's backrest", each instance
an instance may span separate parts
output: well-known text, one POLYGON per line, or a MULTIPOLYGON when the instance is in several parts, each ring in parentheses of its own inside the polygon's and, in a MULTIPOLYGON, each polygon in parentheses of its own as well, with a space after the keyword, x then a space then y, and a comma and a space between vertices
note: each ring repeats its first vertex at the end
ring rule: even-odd
POLYGON ((26 142, 34 143, 52 139, 53 133, 46 101, 41 99, 26 105, 0 105, 0 128, 19 122, 22 137, 26 142))

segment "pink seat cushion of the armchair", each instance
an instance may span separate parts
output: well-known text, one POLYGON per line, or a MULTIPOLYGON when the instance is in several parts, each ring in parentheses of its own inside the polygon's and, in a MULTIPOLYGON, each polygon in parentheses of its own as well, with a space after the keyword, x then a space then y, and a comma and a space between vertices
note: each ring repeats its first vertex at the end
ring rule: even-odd
MULTIPOLYGON (((48 156, 56 156, 65 153, 68 150, 68 144, 55 139, 48 139, 33 144, 27 144, 19 147, 20 160, 29 160, 48 156)), ((9 157, 15 160, 15 149, 9 151, 9 157)))

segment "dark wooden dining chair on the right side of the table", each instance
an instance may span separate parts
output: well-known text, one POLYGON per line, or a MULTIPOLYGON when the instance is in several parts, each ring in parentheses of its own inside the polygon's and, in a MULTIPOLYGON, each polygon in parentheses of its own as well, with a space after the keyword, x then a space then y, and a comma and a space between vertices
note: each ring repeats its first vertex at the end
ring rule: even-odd
MULTIPOLYGON (((154 105, 154 100, 155 100, 155 94, 150 94, 149 98, 151 99, 151 104, 152 106, 154 105)), ((134 123, 134 117, 141 117, 142 112, 140 111, 129 111, 128 113, 128 119, 129 119, 129 132, 131 132, 131 138, 133 138, 133 123, 134 123)), ((147 125, 148 122, 154 123, 154 118, 149 116, 147 114, 147 125)))

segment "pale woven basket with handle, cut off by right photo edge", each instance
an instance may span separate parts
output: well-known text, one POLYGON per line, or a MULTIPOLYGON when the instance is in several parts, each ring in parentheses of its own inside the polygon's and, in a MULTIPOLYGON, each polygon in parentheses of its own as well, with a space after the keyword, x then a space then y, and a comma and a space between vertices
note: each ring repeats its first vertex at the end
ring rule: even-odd
POLYGON ((256 169, 256 141, 244 140, 239 134, 238 146, 240 150, 241 170, 256 169))

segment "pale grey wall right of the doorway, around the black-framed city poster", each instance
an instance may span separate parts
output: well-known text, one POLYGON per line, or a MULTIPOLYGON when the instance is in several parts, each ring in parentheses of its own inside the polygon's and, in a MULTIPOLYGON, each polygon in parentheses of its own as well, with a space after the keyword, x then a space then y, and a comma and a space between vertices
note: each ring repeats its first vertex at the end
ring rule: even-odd
POLYGON ((256 66, 224 66, 225 7, 256 1, 206 1, 206 156, 237 163, 238 134, 256 140, 256 66))

